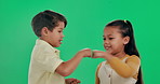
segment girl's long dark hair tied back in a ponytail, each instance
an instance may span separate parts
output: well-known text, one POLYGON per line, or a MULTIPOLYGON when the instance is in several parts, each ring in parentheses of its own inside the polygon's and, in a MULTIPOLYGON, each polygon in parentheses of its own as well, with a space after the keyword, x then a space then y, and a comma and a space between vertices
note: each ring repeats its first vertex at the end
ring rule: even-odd
MULTIPOLYGON (((118 20, 114 20, 114 22, 106 25, 106 27, 108 27, 108 26, 118 26, 122 37, 130 37, 129 43, 124 46, 124 52, 129 55, 136 55, 139 57, 139 53, 138 53, 136 45, 135 45, 132 24, 129 20, 118 19, 118 20)), ((136 84, 144 84, 141 68, 138 71, 137 79, 138 80, 137 80, 136 84)))

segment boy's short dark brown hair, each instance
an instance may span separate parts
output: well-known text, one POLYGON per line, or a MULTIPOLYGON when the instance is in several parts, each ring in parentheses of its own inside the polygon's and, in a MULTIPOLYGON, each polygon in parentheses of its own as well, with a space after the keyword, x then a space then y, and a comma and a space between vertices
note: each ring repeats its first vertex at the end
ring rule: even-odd
POLYGON ((37 37, 41 37, 41 29, 46 27, 50 31, 52 31, 56 26, 58 26, 58 22, 64 22, 65 27, 67 25, 67 19, 59 13, 45 10, 37 14, 32 20, 31 26, 35 34, 37 37))

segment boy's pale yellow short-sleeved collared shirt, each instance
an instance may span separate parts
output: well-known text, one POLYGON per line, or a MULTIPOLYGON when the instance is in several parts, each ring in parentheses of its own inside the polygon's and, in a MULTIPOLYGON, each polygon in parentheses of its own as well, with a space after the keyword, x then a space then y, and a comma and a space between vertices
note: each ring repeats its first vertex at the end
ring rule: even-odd
POLYGON ((64 76, 55 72, 62 62, 59 51, 38 39, 31 54, 28 84, 65 84, 64 76))

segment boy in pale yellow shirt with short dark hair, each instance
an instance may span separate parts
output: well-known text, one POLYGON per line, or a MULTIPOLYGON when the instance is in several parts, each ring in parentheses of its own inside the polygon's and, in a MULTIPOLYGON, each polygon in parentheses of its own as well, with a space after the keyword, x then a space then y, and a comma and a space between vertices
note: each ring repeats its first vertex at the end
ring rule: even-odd
POLYGON ((78 84, 79 80, 64 79, 74 72, 83 57, 91 57, 91 50, 78 52, 68 61, 59 58, 59 51, 54 48, 62 44, 66 18, 53 11, 37 14, 31 22, 32 30, 39 38, 32 50, 28 84, 78 84))

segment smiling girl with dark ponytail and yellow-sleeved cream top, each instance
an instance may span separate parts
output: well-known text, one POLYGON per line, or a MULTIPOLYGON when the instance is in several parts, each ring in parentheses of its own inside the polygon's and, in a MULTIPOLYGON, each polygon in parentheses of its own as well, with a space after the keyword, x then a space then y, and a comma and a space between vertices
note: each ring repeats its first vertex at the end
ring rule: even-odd
POLYGON ((139 54, 129 20, 114 20, 104 29, 106 52, 94 51, 93 58, 104 58, 96 71, 95 84, 143 84, 139 54))

